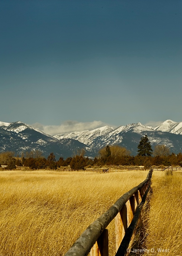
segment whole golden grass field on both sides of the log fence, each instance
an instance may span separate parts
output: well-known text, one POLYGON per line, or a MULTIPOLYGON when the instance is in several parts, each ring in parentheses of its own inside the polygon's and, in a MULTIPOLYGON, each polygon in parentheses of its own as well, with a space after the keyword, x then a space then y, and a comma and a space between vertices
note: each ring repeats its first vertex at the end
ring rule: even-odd
MULTIPOLYGON (((0 256, 64 255, 91 222, 148 172, 0 172, 0 256)), ((154 172, 150 211, 142 221, 144 255, 182 256, 182 173, 154 172)), ((108 226, 115 255, 114 221, 108 226)), ((136 254, 140 255, 140 254, 136 254)))

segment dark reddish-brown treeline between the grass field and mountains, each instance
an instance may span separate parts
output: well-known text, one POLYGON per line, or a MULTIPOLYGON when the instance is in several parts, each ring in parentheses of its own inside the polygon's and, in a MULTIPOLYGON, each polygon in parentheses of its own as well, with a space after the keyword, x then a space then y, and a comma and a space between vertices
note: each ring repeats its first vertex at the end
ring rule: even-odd
MULTIPOLYGON (((53 154, 53 153, 52 153, 53 154)), ((54 154, 53 154, 54 155, 54 154)), ((103 165, 132 165, 132 166, 144 166, 145 168, 149 168, 153 165, 156 166, 182 166, 182 153, 178 155, 170 154, 168 156, 98 156, 95 157, 93 160, 89 159, 88 157, 84 156, 74 156, 68 157, 67 159, 63 159, 60 157, 58 161, 52 159, 46 159, 44 157, 39 158, 23 158, 23 159, 16 159, 12 157, 10 161, 1 161, 1 165, 7 165, 6 169, 15 169, 16 166, 27 166, 30 169, 57 169, 60 167, 66 167, 70 165, 71 169, 84 169, 87 167, 92 167, 95 165, 103 166, 103 165)))

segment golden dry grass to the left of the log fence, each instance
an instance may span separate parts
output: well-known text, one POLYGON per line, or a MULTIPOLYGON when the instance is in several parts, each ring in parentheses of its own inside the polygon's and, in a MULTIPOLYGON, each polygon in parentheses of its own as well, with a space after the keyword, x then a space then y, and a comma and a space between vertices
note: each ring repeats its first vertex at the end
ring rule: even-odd
MULTIPOLYGON (((91 222, 146 176, 0 172, 0 256, 63 255, 91 222)), ((113 255, 113 221, 109 226, 113 255)))

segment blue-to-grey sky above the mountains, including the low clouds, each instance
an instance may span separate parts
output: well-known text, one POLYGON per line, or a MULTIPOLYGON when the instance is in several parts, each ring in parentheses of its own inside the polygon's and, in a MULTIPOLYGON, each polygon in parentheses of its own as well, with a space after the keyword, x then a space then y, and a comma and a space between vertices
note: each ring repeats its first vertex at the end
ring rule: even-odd
POLYGON ((1 0, 0 121, 182 121, 182 1, 1 0))

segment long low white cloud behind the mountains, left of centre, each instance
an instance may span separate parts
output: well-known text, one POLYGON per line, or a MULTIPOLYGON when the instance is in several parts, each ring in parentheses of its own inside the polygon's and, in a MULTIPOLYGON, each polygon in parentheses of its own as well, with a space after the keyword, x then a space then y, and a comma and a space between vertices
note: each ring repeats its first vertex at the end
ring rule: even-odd
POLYGON ((43 125, 40 123, 31 124, 32 127, 39 129, 42 132, 45 132, 50 135, 66 133, 66 132, 81 132, 85 130, 94 130, 98 127, 108 125, 102 121, 93 121, 93 122, 78 122, 67 120, 60 125, 43 125))

